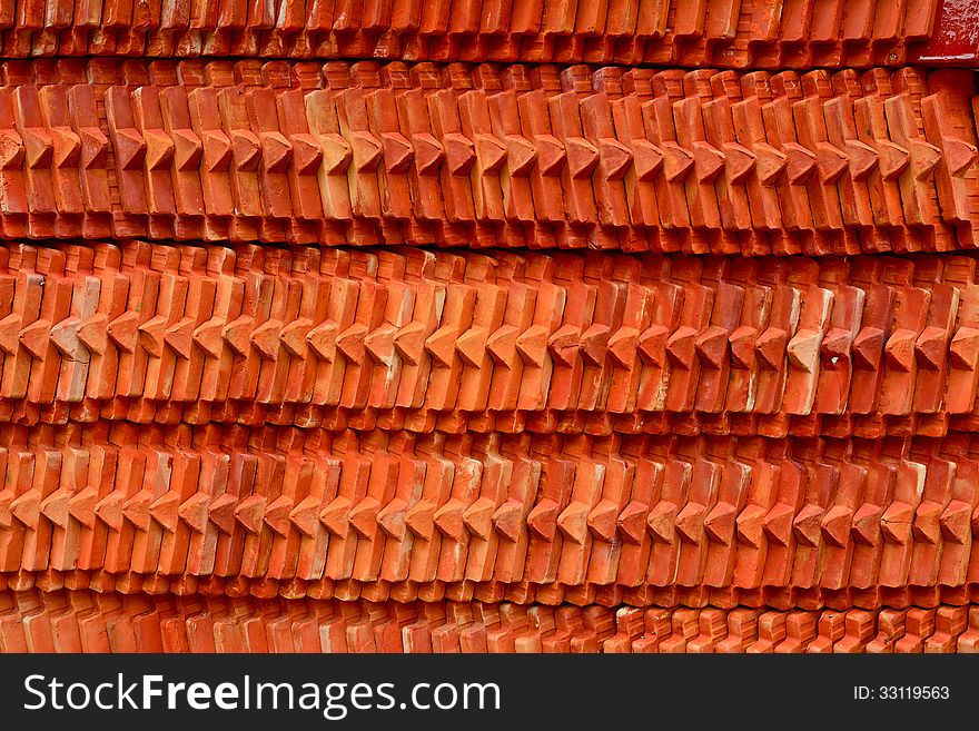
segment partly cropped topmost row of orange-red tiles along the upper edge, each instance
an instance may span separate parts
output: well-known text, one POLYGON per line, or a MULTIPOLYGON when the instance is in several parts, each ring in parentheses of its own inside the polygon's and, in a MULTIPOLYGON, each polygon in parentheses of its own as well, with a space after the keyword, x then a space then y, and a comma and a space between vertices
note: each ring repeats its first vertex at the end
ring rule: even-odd
MULTIPOLYGON (((726 68, 897 66, 937 0, 37 0, 4 3, 6 57, 251 56, 726 68)), ((955 20, 953 18, 950 20, 955 20)), ((926 55, 927 55, 927 49, 926 55)), ((912 58, 914 55, 912 53, 912 58)))

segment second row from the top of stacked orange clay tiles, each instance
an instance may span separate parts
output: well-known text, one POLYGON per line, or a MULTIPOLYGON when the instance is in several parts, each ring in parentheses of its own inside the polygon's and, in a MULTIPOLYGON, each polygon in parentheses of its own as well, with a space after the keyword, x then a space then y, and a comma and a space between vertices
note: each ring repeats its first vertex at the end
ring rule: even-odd
POLYGON ((975 75, 8 61, 0 235, 760 254, 979 243, 975 75))

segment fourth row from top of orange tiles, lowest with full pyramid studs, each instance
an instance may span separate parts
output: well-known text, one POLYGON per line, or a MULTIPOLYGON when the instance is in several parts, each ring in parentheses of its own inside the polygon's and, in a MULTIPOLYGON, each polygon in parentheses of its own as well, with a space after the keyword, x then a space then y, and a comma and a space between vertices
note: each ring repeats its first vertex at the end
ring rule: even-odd
POLYGON ((146 591, 187 575, 342 597, 483 586, 524 602, 601 590, 649 603, 680 587, 866 602, 979 581, 979 446, 965 434, 0 432, 0 571, 14 587, 39 572, 49 585, 146 591))

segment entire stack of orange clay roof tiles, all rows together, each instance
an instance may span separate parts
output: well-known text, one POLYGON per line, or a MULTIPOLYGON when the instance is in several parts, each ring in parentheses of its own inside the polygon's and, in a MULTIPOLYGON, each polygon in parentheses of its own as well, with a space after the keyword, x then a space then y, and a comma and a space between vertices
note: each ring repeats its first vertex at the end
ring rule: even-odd
POLYGON ((979 651, 957 8, 4 4, 0 651, 979 651))

